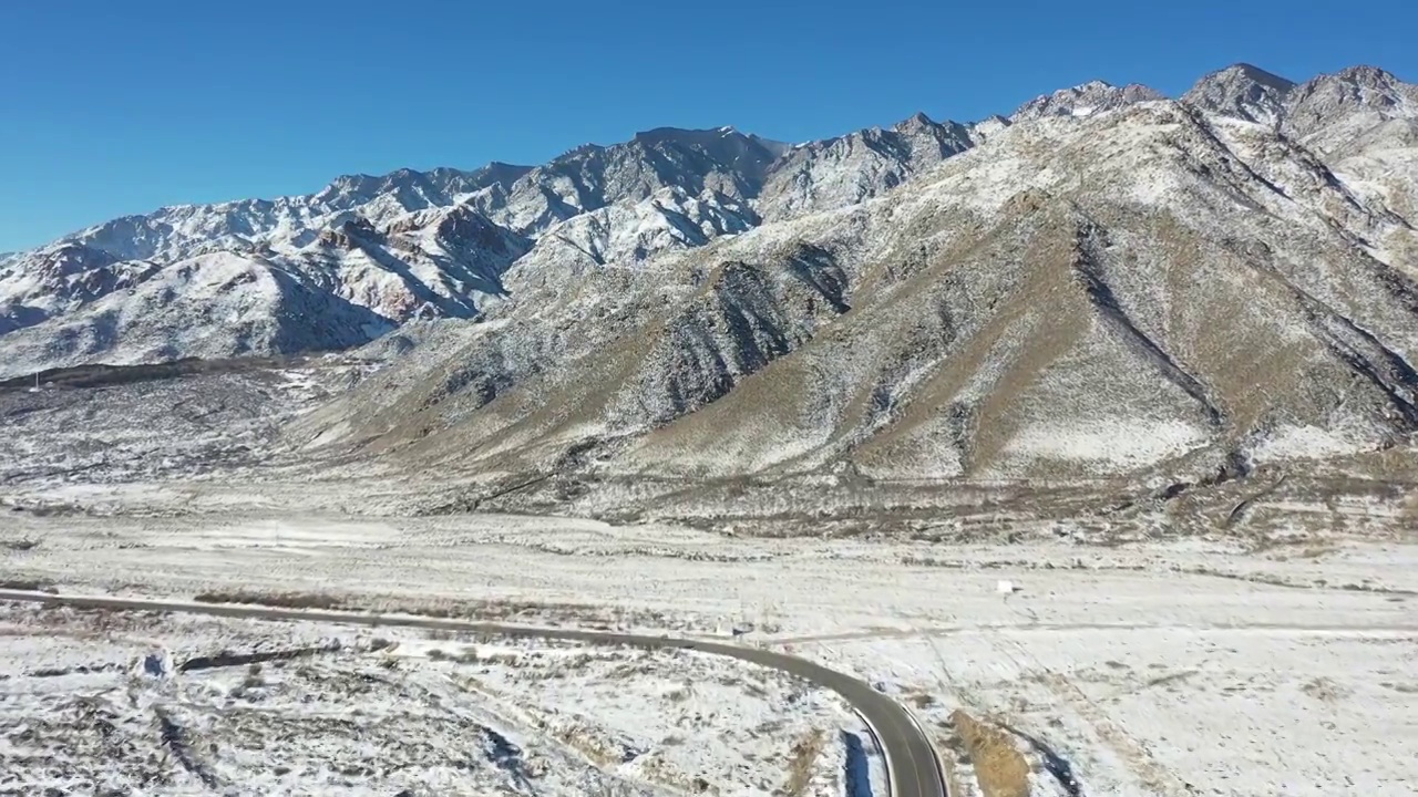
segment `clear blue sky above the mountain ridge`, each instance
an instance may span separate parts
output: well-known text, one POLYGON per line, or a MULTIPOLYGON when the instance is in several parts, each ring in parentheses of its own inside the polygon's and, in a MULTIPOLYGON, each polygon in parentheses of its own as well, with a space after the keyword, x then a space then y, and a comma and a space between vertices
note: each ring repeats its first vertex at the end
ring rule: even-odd
POLYGON ((1414 31, 1418 0, 4 0, 0 251, 661 125, 797 142, 1236 61, 1415 81, 1414 31))

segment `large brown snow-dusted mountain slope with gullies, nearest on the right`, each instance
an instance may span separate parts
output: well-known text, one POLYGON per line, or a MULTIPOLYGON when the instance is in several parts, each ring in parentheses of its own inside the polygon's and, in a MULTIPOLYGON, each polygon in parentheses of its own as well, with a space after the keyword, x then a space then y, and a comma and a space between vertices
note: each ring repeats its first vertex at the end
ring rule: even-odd
POLYGON ((1044 118, 652 268, 518 264, 523 311, 292 435, 686 478, 1201 478, 1371 450, 1418 428, 1414 264, 1380 235, 1412 230, 1263 126, 1166 101, 1044 118))

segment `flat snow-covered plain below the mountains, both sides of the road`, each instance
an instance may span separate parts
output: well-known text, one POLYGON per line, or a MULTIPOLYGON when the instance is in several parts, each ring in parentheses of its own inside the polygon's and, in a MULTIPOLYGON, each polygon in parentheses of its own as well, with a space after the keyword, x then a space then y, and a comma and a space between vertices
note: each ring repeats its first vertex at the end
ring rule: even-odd
MULTIPOLYGON (((746 644, 818 659, 899 695, 934 730, 964 793, 976 790, 971 767, 946 726, 957 708, 1008 726, 1021 745, 1032 739, 1065 762, 1079 793, 1089 796, 1398 796, 1411 794, 1418 781, 1412 540, 1306 535, 1265 546, 1217 537, 1102 547, 1061 537, 940 546, 740 539, 515 516, 138 519, 13 512, 0 522, 0 580, 61 591, 318 601, 703 635, 747 630, 746 644), (1018 590, 998 593, 1000 580, 1018 590)), ((590 777, 644 784, 654 780, 645 771, 651 763, 654 773, 674 773, 665 777, 675 783, 689 779, 691 790, 693 779, 703 777, 722 794, 773 793, 788 783, 794 750, 813 739, 830 743, 814 757, 803 793, 839 794, 852 780, 848 753, 859 749, 849 739, 864 739, 831 695, 688 654, 427 638, 376 654, 352 652, 354 632, 336 628, 152 617, 105 623, 118 623, 118 630, 85 635, 84 645, 101 647, 71 655, 64 667, 111 662, 121 669, 3 681, 10 696, 0 703, 0 719, 14 723, 33 713, 37 703, 18 701, 17 689, 50 689, 44 699, 52 703, 44 705, 54 710, 69 705, 64 701, 116 689, 105 692, 119 695, 106 710, 129 716, 122 712, 136 710, 123 708, 132 699, 191 706, 200 684, 225 679, 228 696, 208 701, 225 705, 244 668, 138 681, 128 668, 153 645, 182 655, 241 650, 241 634, 259 627, 268 645, 277 644, 274 637, 279 645, 301 647, 343 635, 345 652, 301 665, 349 678, 387 674, 386 662, 397 662, 390 667, 398 686, 379 686, 390 691, 389 702, 403 689, 418 695, 420 705, 437 702, 438 712, 482 718, 479 723, 542 760, 583 762, 580 770, 553 766, 557 774, 539 781, 539 794, 580 794, 590 777), (174 631, 159 623, 180 625, 174 631), (201 634, 208 641, 182 641, 201 634), (102 654, 102 645, 122 640, 135 641, 121 655, 102 654), (139 698, 122 696, 135 688, 139 698), (793 696, 795 689, 804 689, 801 696, 793 696), (163 696, 169 693, 176 696, 163 696), (679 736, 683 745, 666 743, 679 736), (638 753, 614 763, 615 750, 638 753), (600 766, 586 763, 596 756, 605 756, 600 766)), ((34 651, 79 644, 33 628, 4 637, 6 655, 16 651, 37 662, 54 654, 34 651), (26 641, 10 644, 20 638, 26 641)), ((294 672, 291 667, 284 672, 294 672)), ((262 672, 271 674, 272 665, 262 672)), ((278 696, 268 699, 286 706, 281 722, 299 723, 298 709, 306 705, 301 695, 323 686, 282 678, 284 685, 272 688, 278 696)), ((360 706, 374 710, 366 705, 373 702, 362 699, 360 706)), ((225 716, 207 708, 183 710, 197 728, 225 716)), ((438 716, 451 723, 458 715, 438 716)), ((389 728, 389 743, 396 733, 411 733, 393 722, 389 728)), ((438 745, 438 735, 451 730, 420 733, 438 745)), ((14 732, 6 737, 14 745, 14 732)), ((346 736, 328 745, 333 747, 292 750, 291 760, 303 763, 284 766, 323 773, 318 762, 353 754, 335 753, 354 749, 346 736)), ((506 776, 495 767, 488 773, 506 776)), ((1035 794, 1068 793, 1042 767, 1032 784, 1035 794)), ((879 784, 873 793, 882 793, 879 784)))

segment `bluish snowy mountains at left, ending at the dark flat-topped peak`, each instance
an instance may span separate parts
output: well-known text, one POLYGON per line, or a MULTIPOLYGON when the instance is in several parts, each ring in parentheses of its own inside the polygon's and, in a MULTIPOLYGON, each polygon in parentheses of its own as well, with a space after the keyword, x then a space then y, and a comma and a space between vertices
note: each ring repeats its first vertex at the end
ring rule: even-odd
POLYGON ((0 373, 336 349, 415 316, 472 318, 505 295, 502 271, 550 230, 557 233, 542 260, 574 250, 604 264, 757 224, 749 201, 786 149, 732 128, 658 129, 623 145, 577 147, 535 169, 492 163, 475 172, 353 174, 309 196, 116 218, 0 261, 0 373), (312 306, 309 298, 184 296, 204 285, 187 274, 210 272, 216 261, 207 255, 217 254, 225 255, 217 261, 240 262, 234 271, 279 274, 278 285, 323 292, 330 306, 360 312, 278 318, 312 306), (136 302, 133 291, 147 279, 163 286, 156 295, 164 301, 143 299, 145 312, 130 323, 104 321, 125 298, 136 302), (217 306, 200 316, 164 312, 177 306, 167 299, 182 305, 189 298, 217 306), (224 306, 231 302, 240 309, 224 306), (252 336, 225 321, 248 312, 271 313, 284 332, 252 336), (193 333, 186 329, 193 323, 210 328, 193 333))

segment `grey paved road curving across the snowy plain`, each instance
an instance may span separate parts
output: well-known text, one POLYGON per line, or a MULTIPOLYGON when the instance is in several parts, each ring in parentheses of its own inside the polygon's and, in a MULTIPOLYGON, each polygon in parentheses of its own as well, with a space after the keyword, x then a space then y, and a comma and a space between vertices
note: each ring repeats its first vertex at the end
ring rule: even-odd
POLYGON ((0 590, 0 601, 26 601, 44 606, 72 606, 77 608, 108 608, 121 611, 163 611, 183 614, 207 614, 216 617, 241 617, 255 620, 303 620, 312 623, 336 623, 345 625, 397 625, 406 628, 437 628, 472 634, 496 634, 516 638, 569 640, 601 645, 631 645, 637 648, 682 648, 715 655, 726 655, 763 667, 781 669, 825 686, 852 705, 876 732, 886 753, 886 767, 891 777, 892 797, 947 797, 944 779, 930 739, 916 725, 912 716, 898 702, 872 689, 865 682, 849 675, 793 655, 710 642, 681 640, 672 637, 648 637, 641 634, 614 634, 571 628, 536 628, 527 625, 503 625, 501 623, 472 623, 465 620, 444 620, 437 617, 353 614, 343 611, 305 611, 295 608, 272 608, 261 606, 206 604, 160 600, 132 600, 112 597, 51 596, 0 590))

